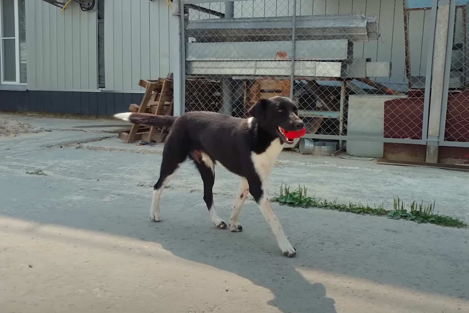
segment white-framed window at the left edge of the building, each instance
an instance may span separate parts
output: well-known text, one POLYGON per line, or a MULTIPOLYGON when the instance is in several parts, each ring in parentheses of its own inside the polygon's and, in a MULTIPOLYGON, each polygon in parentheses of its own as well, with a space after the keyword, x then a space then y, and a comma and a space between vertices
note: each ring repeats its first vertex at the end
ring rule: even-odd
POLYGON ((25 0, 0 0, 1 83, 26 83, 25 0))

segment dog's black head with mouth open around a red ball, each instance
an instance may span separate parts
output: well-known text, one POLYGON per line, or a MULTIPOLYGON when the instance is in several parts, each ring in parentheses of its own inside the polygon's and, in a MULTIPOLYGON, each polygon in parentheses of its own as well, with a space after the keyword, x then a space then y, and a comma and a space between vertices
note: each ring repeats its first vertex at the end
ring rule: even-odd
POLYGON ((261 99, 250 108, 249 113, 257 119, 258 127, 279 137, 283 143, 293 143, 293 139, 285 136, 285 131, 303 128, 303 121, 298 117, 298 108, 286 97, 261 99))

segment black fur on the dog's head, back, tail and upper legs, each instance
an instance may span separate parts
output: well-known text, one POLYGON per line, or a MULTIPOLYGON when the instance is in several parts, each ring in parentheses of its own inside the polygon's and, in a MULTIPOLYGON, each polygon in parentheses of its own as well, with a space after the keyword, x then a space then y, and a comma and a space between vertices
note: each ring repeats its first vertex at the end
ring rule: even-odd
MULTIPOLYGON (((262 154, 275 140, 289 142, 279 131, 303 128, 295 104, 285 97, 258 101, 250 108, 250 119, 240 119, 214 112, 187 112, 180 117, 159 117, 152 114, 132 113, 128 120, 150 126, 169 126, 173 123, 163 150, 160 177, 154 190, 164 187, 165 180, 178 166, 190 158, 204 181, 204 201, 209 211, 213 206, 212 187, 215 180, 215 161, 249 183, 250 194, 259 203, 264 194, 263 181, 253 163, 252 153, 262 154), (202 153, 212 161, 203 162, 202 153), (209 162, 210 163, 210 162, 209 162)), ((119 114, 118 114, 119 115, 119 114)), ((116 115, 116 117, 119 117, 116 115)), ((227 225, 217 225, 226 228, 227 225)))

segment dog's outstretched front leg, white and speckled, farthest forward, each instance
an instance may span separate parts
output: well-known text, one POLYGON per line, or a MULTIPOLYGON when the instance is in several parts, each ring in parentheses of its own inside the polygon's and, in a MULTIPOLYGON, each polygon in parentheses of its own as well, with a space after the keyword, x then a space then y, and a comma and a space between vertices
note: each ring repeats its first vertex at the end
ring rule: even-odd
POLYGON ((267 199, 267 195, 265 194, 265 188, 260 184, 250 183, 249 190, 259 205, 262 215, 264 215, 267 222, 269 222, 270 228, 277 239, 277 244, 279 245, 280 250, 282 250, 283 255, 289 258, 294 257, 296 255, 296 249, 288 240, 285 232, 283 231, 282 225, 280 225, 279 219, 273 212, 270 202, 267 199))

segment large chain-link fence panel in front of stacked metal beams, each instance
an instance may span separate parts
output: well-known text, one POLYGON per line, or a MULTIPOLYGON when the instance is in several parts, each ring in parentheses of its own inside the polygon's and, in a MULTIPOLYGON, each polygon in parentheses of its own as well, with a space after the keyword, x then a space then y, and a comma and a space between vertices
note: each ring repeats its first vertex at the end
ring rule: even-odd
POLYGON ((186 0, 185 110, 247 117, 284 96, 306 137, 421 144, 435 11, 406 2, 186 0))

